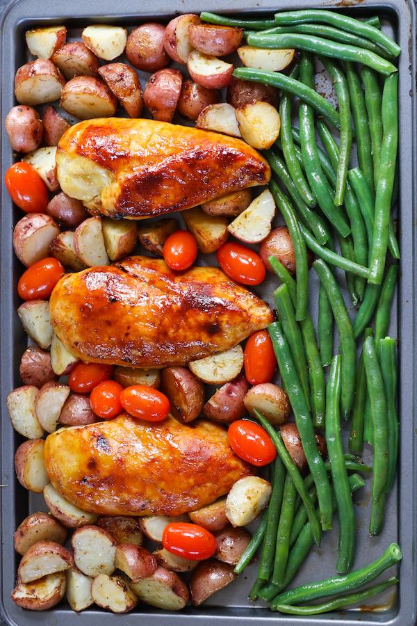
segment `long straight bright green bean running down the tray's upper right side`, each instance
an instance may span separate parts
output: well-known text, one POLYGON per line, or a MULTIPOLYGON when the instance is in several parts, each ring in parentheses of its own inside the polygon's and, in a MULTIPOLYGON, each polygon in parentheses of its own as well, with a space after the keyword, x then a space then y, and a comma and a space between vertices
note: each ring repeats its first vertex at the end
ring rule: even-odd
POLYGON ((379 284, 384 276, 386 251, 389 242, 389 220, 398 149, 398 76, 390 76, 384 82, 382 92, 381 161, 375 196, 375 219, 372 251, 370 255, 369 282, 379 284))

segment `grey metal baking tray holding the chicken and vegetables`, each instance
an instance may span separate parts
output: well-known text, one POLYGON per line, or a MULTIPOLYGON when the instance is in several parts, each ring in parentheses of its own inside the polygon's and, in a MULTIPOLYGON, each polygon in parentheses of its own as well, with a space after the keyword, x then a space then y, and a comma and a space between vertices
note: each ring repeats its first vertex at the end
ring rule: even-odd
MULTIPOLYGON (((391 335, 400 340, 399 408, 401 422, 401 450, 399 481, 389 496, 384 532, 378 538, 368 536, 370 481, 355 495, 357 514, 357 551, 354 567, 360 567, 382 553, 391 541, 398 541, 404 554, 400 565, 398 591, 389 591, 377 600, 378 610, 325 613, 314 618, 295 618, 272 613, 262 602, 250 603, 247 595, 256 577, 256 564, 247 568, 231 586, 211 597, 199 609, 187 607, 180 613, 159 611, 140 604, 136 611, 122 619, 125 623, 143 626, 198 625, 211 626, 219 621, 224 626, 245 624, 267 626, 270 624, 320 624, 412 626, 417 618, 417 408, 416 408, 416 227, 413 207, 417 203, 417 137, 416 137, 416 6, 412 0, 15 0, 8 3, 1 22, 1 180, 13 163, 13 154, 4 129, 4 118, 15 104, 13 77, 17 67, 28 60, 24 45, 24 31, 37 25, 65 23, 70 37, 79 36, 83 26, 104 22, 136 26, 141 22, 156 20, 167 22, 178 13, 200 13, 211 10, 257 17, 272 15, 276 10, 296 8, 334 8, 349 15, 379 15, 387 32, 393 34, 402 48, 400 56, 400 246, 402 272, 398 297, 393 305, 391 335), (169 6, 168 6, 169 5, 169 6), (74 17, 76 16, 76 17, 74 17)), ((143 78, 143 77, 142 77, 143 78)), ((19 609, 10 599, 15 584, 17 554, 13 549, 13 531, 28 513, 44 509, 42 498, 29 494, 15 477, 13 456, 22 438, 13 431, 5 406, 5 399, 21 384, 19 360, 26 348, 27 337, 17 319, 16 285, 22 271, 12 247, 13 224, 19 219, 13 209, 4 185, 1 186, 1 596, 0 612, 9 625, 29 626, 47 624, 74 625, 83 620, 85 625, 111 626, 120 619, 111 613, 92 607, 81 616, 61 603, 56 609, 36 613, 19 609)), ((210 259, 204 259, 208 264, 210 259)), ((313 274, 313 273, 311 273, 313 274)), ((311 278, 313 278, 311 276, 311 278)), ((317 289, 311 281, 311 306, 316 307, 317 289)), ((272 291, 277 282, 273 277, 263 284, 259 295, 272 303, 272 291)), ((370 450, 364 453, 370 458, 370 450)), ((295 584, 312 581, 335 572, 337 532, 325 533, 320 549, 314 547, 302 567, 295 584)))

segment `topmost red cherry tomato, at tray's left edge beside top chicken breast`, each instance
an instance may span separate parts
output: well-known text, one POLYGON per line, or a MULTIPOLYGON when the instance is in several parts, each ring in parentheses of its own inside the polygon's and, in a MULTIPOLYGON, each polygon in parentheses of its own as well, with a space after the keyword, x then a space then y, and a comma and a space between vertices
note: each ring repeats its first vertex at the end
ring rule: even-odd
POLYGON ((4 177, 13 202, 25 213, 44 213, 49 202, 47 186, 29 163, 19 161, 4 177))

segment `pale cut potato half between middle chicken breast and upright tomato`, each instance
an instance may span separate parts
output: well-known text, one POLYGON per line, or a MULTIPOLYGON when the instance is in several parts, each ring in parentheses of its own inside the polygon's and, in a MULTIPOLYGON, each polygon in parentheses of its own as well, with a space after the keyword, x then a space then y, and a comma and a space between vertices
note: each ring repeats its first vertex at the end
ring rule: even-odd
POLYGON ((191 361, 190 370, 208 385, 222 385, 236 378, 243 367, 243 350, 238 345, 226 352, 191 361))

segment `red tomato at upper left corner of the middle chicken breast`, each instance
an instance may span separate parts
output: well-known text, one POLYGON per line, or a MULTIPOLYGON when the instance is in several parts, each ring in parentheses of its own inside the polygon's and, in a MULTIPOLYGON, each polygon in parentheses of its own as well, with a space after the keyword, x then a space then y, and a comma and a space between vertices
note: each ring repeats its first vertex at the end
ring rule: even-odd
POLYGON ((54 257, 40 259, 19 278, 17 293, 22 300, 46 300, 64 273, 63 264, 54 257))

